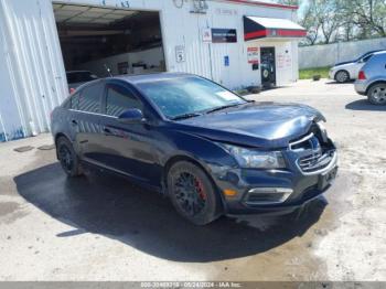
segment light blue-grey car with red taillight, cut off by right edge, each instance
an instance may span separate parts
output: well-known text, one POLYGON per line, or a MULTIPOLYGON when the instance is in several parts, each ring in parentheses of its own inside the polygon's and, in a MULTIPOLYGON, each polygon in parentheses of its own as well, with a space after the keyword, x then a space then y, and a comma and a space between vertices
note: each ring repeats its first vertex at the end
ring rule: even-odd
POLYGON ((386 105, 386 52, 377 52, 358 73, 355 90, 374 105, 386 105))

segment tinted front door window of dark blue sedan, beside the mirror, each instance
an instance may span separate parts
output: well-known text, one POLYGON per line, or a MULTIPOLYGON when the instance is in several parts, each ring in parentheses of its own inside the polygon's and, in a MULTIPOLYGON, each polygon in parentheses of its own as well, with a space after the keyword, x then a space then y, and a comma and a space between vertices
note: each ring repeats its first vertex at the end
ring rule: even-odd
POLYGON ((106 114, 118 117, 130 108, 142 109, 142 103, 120 85, 107 86, 106 114))

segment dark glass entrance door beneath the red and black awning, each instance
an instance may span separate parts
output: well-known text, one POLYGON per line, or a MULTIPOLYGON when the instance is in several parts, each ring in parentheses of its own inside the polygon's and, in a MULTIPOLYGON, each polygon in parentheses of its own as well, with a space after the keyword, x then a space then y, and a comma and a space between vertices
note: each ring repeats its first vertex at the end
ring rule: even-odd
POLYGON ((275 47, 261 47, 261 85, 264 88, 276 86, 275 47))

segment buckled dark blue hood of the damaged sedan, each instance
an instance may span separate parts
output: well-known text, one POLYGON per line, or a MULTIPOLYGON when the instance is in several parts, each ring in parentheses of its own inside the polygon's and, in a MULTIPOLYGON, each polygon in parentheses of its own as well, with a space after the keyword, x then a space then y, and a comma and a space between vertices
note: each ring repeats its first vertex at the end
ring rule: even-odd
POLYGON ((215 141, 283 148, 305 135, 313 121, 324 120, 317 109, 294 104, 250 103, 178 121, 179 130, 215 141))

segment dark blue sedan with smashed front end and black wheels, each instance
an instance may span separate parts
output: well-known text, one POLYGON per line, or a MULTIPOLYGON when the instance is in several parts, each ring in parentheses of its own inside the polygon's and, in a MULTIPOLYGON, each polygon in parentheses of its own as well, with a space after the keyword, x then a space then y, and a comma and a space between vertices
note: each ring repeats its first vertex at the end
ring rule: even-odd
POLYGON ((86 167, 128 176, 204 225, 292 212, 329 189, 337 154, 324 121, 309 106, 249 101, 167 73, 87 83, 53 111, 52 132, 68 176, 86 167))

